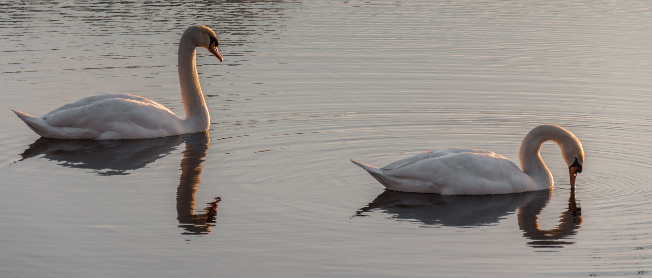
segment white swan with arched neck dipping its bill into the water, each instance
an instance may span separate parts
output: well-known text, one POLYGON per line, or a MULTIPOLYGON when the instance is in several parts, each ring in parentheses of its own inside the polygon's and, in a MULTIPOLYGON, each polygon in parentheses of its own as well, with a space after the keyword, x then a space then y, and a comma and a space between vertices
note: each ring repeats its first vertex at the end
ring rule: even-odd
POLYGON ((571 188, 582 173, 584 150, 575 135, 561 126, 537 126, 527 133, 518 152, 523 171, 511 160, 488 150, 445 148, 426 150, 382 168, 353 163, 368 171, 385 188, 441 195, 505 194, 549 189, 552 174, 539 150, 545 141, 554 141, 569 165, 571 188))

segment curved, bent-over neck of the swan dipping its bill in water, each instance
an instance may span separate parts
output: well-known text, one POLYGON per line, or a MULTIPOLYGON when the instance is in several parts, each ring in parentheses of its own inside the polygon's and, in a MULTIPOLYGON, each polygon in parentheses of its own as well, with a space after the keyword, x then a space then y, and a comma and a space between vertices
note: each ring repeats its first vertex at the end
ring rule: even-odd
POLYGON ((541 185, 552 186, 554 182, 552 173, 539 154, 541 145, 546 141, 554 141, 563 152, 563 143, 572 140, 571 134, 559 126, 552 125, 537 126, 527 133, 521 143, 521 149, 518 151, 518 161, 521 163, 523 172, 541 185))

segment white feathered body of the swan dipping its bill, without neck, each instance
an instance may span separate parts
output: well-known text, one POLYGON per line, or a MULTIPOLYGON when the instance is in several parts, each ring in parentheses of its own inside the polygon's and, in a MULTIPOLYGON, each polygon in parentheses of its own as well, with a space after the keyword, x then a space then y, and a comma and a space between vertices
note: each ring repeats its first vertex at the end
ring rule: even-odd
POLYGON ((382 168, 351 161, 394 191, 486 195, 552 187, 552 179, 537 182, 504 156, 475 148, 426 150, 382 168))

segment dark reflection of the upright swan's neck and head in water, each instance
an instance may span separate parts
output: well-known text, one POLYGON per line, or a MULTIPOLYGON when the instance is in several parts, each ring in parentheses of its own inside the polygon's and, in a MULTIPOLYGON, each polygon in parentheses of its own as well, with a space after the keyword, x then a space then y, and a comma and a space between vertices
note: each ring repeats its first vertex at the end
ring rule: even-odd
POLYGON ((195 214, 195 193, 200 184, 201 163, 205 161, 206 150, 209 147, 208 132, 203 136, 186 139, 186 149, 181 160, 181 177, 177 188, 177 220, 178 227, 186 230, 181 234, 210 234, 211 227, 215 227, 217 204, 222 201, 215 197, 215 201, 208 202, 200 214, 195 214))

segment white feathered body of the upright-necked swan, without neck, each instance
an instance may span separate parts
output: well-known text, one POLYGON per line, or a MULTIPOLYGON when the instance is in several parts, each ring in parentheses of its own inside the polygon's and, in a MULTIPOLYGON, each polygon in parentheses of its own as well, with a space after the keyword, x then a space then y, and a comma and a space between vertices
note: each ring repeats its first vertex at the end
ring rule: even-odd
POLYGON ((195 131, 170 109, 132 94, 100 94, 63 105, 42 117, 19 111, 29 128, 57 139, 140 139, 195 131))

